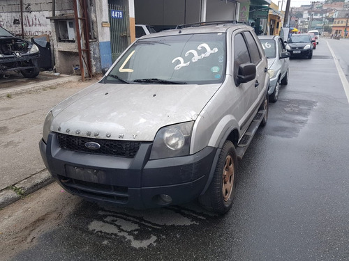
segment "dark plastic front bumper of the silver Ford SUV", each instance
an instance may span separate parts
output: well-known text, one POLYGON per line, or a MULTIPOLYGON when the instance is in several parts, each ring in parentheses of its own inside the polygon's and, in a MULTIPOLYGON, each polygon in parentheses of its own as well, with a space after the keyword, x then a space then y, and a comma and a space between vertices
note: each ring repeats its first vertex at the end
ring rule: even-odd
POLYGON ((92 155, 59 148, 51 133, 41 140, 45 166, 66 191, 87 200, 136 209, 177 205, 200 196, 205 188, 216 148, 186 157, 149 160, 152 143, 141 143, 134 158, 92 155), (170 202, 163 201, 170 196, 170 202))

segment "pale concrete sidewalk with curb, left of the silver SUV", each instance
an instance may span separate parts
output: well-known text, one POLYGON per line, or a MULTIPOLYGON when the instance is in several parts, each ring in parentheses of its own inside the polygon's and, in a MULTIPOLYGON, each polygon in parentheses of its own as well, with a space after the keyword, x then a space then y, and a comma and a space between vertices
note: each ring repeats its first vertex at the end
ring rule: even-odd
POLYGON ((38 149, 45 115, 96 81, 61 74, 57 79, 0 88, 0 209, 53 182, 38 149))

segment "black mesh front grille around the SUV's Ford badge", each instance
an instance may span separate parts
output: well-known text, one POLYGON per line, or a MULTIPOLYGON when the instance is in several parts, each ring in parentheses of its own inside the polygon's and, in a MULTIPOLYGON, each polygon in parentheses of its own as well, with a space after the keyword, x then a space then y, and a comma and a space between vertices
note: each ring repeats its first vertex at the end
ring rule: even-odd
POLYGON ((105 139, 93 139, 57 133, 59 147, 64 150, 87 152, 90 154, 112 155, 117 157, 134 158, 140 148, 139 141, 115 141, 105 139), (87 142, 96 142, 101 145, 98 150, 85 147, 87 142))

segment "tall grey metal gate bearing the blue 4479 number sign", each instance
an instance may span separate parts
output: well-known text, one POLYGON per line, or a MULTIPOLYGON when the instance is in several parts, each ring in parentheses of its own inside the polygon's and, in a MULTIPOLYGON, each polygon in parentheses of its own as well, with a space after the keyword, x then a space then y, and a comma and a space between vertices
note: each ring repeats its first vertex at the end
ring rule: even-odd
POLYGON ((108 1, 110 21, 110 45, 112 47, 112 62, 114 62, 129 45, 129 19, 125 6, 115 1, 108 1))

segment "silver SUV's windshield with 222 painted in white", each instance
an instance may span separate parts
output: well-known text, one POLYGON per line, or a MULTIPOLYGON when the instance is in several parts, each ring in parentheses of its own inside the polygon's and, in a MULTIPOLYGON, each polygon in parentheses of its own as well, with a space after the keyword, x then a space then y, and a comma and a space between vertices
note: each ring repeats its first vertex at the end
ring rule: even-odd
POLYGON ((225 75, 225 34, 171 35, 138 40, 105 83, 215 84, 225 75))

